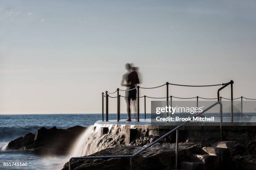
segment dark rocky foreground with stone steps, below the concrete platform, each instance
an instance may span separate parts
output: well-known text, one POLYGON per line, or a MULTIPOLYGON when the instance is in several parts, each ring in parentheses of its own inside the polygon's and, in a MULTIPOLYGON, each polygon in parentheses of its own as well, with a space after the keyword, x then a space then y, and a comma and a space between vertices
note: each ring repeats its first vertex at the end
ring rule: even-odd
MULTIPOLYGON (((184 170, 255 170, 255 148, 255 142, 223 141, 213 143, 211 146, 204 146, 203 143, 179 143, 179 167, 184 170)), ((139 149, 141 147, 123 145, 92 155, 130 155, 139 149)), ((68 170, 68 165, 66 163, 62 170, 68 170)), ((72 160, 72 170, 101 170, 102 168, 130 170, 129 158, 72 160)), ((148 148, 133 158, 132 168, 133 170, 174 169, 175 143, 159 143, 148 148)))

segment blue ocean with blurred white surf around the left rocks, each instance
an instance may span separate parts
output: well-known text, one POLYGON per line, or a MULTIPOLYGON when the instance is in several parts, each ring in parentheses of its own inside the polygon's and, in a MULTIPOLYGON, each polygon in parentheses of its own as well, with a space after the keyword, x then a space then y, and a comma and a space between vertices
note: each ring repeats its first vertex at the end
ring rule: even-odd
MULTIPOLYGON (((127 119, 127 114, 120 114, 120 118, 127 119)), ((43 157, 24 150, 4 150, 4 146, 26 133, 36 133, 41 127, 56 126, 62 129, 75 125, 89 127, 101 119, 102 114, 0 115, 0 170, 60 170, 69 158, 43 157), (28 162, 28 166, 3 166, 3 163, 12 162, 28 162)), ((117 114, 109 114, 109 120, 116 119, 117 114)))

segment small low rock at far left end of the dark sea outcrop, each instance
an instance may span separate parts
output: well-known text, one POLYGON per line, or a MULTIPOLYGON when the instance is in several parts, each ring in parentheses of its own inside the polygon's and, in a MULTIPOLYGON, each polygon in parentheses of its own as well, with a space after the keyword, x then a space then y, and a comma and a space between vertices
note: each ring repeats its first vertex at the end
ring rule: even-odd
POLYGON ((7 148, 8 149, 26 148, 27 146, 32 145, 34 143, 34 138, 35 138, 35 134, 27 133, 26 135, 23 135, 20 138, 10 141, 10 143, 8 143, 7 148))

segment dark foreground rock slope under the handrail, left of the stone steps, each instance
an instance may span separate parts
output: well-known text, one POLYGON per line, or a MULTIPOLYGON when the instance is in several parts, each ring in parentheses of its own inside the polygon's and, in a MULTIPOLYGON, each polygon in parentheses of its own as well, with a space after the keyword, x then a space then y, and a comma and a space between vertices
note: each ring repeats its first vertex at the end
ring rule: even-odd
MULTIPOLYGON (((187 153, 196 148, 195 143, 180 143, 179 159, 184 158, 187 153)), ((132 155, 140 150, 141 147, 136 146, 117 146, 101 150, 91 156, 100 155, 132 155)), ((72 170, 130 170, 129 158, 110 158, 110 159, 87 159, 87 160, 72 160, 72 170), (104 168, 103 168, 104 167, 104 168)), ((146 151, 132 158, 133 170, 159 170, 175 168, 175 144, 166 143, 149 147, 146 151)), ((69 163, 67 162, 62 170, 68 170, 69 163)))

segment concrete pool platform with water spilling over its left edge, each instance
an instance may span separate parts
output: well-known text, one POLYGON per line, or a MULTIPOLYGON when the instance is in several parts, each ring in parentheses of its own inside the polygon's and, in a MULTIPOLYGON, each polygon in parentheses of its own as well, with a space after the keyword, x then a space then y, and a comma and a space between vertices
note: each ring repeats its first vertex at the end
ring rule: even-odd
MULTIPOLYGON (((150 120, 141 119, 140 122, 133 120, 127 122, 125 120, 109 120, 108 122, 98 120, 95 122, 95 132, 101 133, 101 135, 118 135, 125 136, 125 144, 136 143, 141 141, 142 137, 146 137, 145 140, 153 141, 160 136, 168 133, 170 130, 176 128, 181 122, 172 122, 169 125, 153 125, 150 120)), ((208 141, 208 140, 220 140, 222 134, 223 140, 244 140, 251 139, 251 136, 255 135, 256 123, 230 123, 223 122, 222 133, 220 131, 220 123, 202 123, 202 125, 188 122, 187 126, 179 128, 179 141, 208 141)), ((168 140, 175 142, 176 132, 169 135, 168 140)), ((148 142, 148 141, 145 141, 148 142)))

